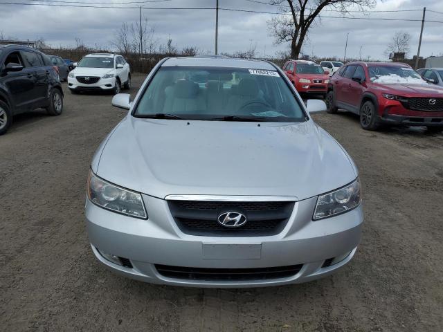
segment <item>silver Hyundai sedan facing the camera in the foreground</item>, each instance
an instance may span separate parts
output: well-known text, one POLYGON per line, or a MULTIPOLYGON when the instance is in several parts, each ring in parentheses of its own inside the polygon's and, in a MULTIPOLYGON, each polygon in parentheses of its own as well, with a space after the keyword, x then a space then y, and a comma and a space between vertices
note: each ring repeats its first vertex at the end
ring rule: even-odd
POLYGON ((161 61, 91 163, 98 261, 154 284, 308 282, 354 256, 363 212, 352 158, 280 68, 226 57, 161 61))

